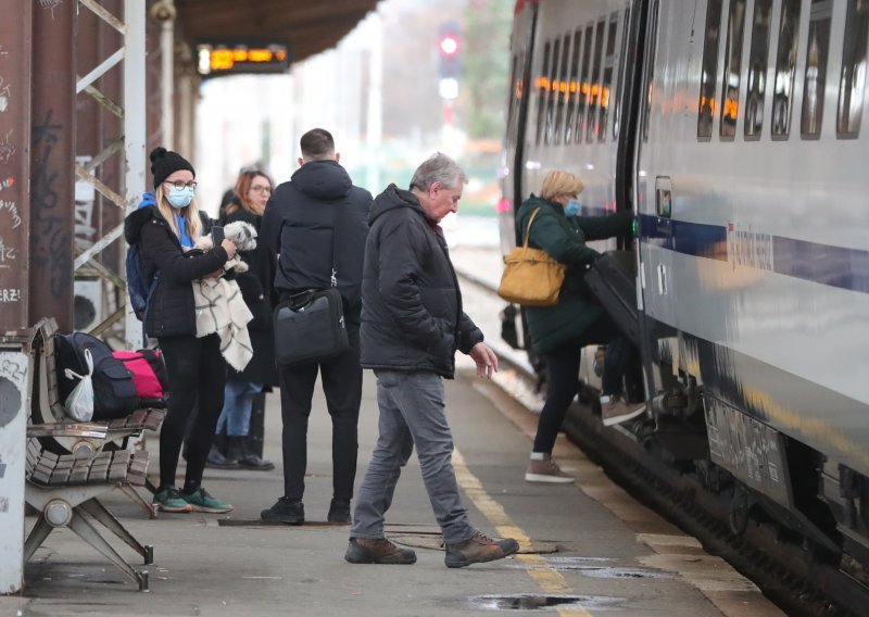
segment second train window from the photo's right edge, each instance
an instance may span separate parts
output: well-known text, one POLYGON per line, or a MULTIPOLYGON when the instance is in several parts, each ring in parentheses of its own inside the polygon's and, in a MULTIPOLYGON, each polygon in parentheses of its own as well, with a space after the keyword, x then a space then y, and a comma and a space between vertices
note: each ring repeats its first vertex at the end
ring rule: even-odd
POLYGON ((803 113, 799 121, 799 133, 804 139, 817 139, 821 134, 832 16, 833 0, 811 0, 806 43, 806 75, 803 84, 803 113))

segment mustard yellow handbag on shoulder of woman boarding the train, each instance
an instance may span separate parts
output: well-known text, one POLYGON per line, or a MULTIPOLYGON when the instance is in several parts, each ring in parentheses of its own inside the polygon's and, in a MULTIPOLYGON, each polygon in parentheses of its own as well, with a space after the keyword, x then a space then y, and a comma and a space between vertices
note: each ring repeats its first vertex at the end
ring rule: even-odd
POLYGON ((564 281, 564 265, 545 251, 529 249, 528 238, 538 207, 531 213, 525 229, 525 241, 504 255, 504 273, 498 294, 507 302, 522 306, 555 306, 564 281))

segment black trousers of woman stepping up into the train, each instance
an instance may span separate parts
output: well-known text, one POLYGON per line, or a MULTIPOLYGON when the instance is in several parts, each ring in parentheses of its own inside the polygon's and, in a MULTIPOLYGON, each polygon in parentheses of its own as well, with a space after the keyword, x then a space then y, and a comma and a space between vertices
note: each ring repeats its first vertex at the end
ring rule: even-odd
POLYGON ((624 338, 608 315, 595 322, 588 331, 588 337, 570 341, 543 354, 549 368, 549 387, 546 402, 538 419, 533 452, 552 453, 567 408, 579 391, 579 362, 582 348, 594 343, 609 343, 607 357, 604 361, 602 393, 618 394, 622 390, 621 379, 630 364, 634 362, 633 345, 624 338))

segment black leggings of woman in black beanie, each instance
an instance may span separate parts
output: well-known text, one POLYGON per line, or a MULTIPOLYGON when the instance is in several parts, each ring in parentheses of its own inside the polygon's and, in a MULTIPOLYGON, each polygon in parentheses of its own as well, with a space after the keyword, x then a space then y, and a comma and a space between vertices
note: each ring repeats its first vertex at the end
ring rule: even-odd
POLYGON ((202 483, 205 458, 224 406, 226 361, 221 355, 217 335, 201 339, 162 338, 159 343, 169 381, 168 412, 160 430, 160 488, 175 486, 185 427, 190 414, 198 410, 187 438, 187 476, 182 489, 192 493, 202 483))

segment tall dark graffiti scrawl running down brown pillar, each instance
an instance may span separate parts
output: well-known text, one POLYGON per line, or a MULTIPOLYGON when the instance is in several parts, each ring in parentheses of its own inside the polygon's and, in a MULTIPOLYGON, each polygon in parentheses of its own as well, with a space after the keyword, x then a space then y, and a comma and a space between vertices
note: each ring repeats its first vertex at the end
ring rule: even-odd
POLYGON ((59 214, 59 198, 55 182, 60 177, 59 163, 52 159, 52 149, 64 129, 61 124, 52 124, 53 110, 33 126, 33 158, 35 169, 30 204, 33 207, 33 229, 36 245, 40 249, 34 254, 38 270, 48 269, 51 294, 59 297, 72 279, 70 263, 70 235, 59 214))

